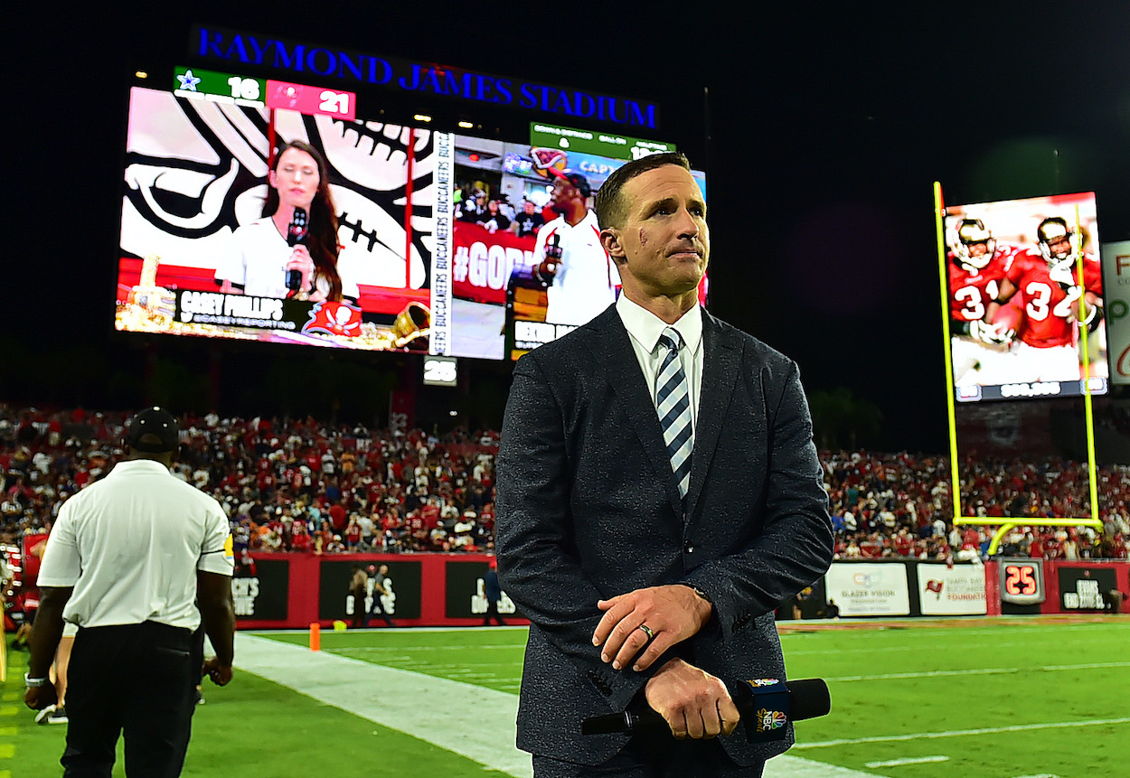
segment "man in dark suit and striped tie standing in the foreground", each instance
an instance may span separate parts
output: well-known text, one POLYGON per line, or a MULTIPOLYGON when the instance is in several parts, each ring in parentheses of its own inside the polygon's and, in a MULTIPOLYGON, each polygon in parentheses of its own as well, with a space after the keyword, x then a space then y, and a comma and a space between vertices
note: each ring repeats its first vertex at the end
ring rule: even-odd
POLYGON ((620 298, 514 370, 498 574, 531 621, 539 778, 759 776, 792 743, 748 743, 722 681, 785 676, 773 612, 827 570, 832 523, 796 364, 698 306, 705 212, 683 155, 614 173, 620 298), (642 701, 673 738, 581 735, 642 701))

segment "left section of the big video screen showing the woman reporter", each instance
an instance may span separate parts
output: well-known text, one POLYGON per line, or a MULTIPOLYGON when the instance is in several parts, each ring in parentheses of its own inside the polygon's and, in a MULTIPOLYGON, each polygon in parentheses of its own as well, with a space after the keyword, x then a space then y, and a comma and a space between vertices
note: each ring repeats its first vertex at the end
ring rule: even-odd
POLYGON ((426 351, 433 133, 269 114, 131 90, 116 327, 426 351))

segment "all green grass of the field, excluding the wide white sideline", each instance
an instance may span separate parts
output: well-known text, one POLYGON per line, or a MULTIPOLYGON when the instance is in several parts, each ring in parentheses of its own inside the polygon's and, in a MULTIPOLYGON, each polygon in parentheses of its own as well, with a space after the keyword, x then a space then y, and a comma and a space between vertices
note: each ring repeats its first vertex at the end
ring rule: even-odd
MULTIPOLYGON (((827 679, 833 711, 798 724, 794 755, 892 778, 1125 775, 1130 723, 1079 723, 1130 717, 1130 620, 797 627, 782 626, 789 674, 827 679), (1052 723, 1075 724, 927 736, 1052 723), (905 762, 920 759, 936 761, 905 762), (894 760, 904 763, 871 766, 894 760)), ((521 629, 322 632, 327 652, 512 693, 524 642, 521 629)), ((19 701, 24 657, 10 656, 0 705, 0 778, 5 769, 14 778, 61 772, 64 727, 36 727, 19 701)), ((228 689, 206 684, 206 696, 185 776, 501 775, 249 673, 228 689)))

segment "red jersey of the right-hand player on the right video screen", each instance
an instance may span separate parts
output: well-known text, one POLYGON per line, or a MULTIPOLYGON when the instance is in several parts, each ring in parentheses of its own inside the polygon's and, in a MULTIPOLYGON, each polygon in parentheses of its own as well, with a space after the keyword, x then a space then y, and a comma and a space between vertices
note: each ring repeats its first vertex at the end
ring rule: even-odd
MULTIPOLYGON (((1089 255, 1083 260, 1081 290, 1078 286, 1064 289, 1053 281, 1048 262, 1032 252, 1018 254, 1010 263, 1007 277, 1016 286, 1015 298, 1024 311, 1024 323, 1017 336, 1037 349, 1074 344, 1079 297, 1084 291, 1103 294, 1102 266, 1089 255)), ((1074 266, 1071 278, 1076 279, 1074 266)))

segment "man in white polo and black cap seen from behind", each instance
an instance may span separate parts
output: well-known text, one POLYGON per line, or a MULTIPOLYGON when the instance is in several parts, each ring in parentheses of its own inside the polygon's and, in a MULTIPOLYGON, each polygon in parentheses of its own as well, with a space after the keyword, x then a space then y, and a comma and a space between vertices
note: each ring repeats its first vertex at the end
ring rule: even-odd
POLYGON ((123 729, 128 776, 181 773, 201 619, 216 650, 202 672, 217 685, 232 680, 228 523, 216 500, 169 473, 177 437, 168 411, 134 416, 125 458, 63 504, 47 539, 24 701, 53 702, 47 667, 63 622, 77 626, 64 776, 108 776, 123 729))

